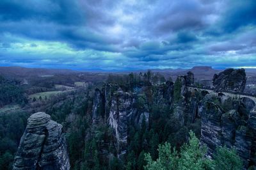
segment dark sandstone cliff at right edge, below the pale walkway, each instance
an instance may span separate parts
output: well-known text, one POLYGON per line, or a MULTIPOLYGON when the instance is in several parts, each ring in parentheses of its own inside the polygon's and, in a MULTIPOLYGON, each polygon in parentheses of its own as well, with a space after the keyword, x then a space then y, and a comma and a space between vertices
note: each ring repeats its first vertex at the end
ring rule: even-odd
POLYGON ((198 109, 202 116, 200 142, 206 144, 209 157, 212 157, 218 146, 234 147, 243 158, 244 167, 255 165, 255 108, 252 109, 250 101, 244 98, 230 100, 229 106, 225 102, 223 105, 221 97, 221 95, 205 95, 200 102, 198 109), (233 109, 225 111, 228 107, 233 109))

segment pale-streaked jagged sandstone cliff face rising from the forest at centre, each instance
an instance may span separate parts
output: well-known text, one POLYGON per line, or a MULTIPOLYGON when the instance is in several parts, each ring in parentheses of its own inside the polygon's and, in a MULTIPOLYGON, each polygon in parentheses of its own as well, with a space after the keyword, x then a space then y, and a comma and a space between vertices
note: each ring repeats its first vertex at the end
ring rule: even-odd
POLYGON ((150 117, 148 104, 164 103, 171 107, 173 102, 173 82, 166 82, 154 89, 151 86, 142 86, 136 90, 134 93, 124 92, 123 89, 116 88, 113 84, 104 84, 102 90, 95 90, 93 123, 100 120, 110 125, 116 153, 120 158, 127 153, 129 125, 140 127, 143 121, 148 125, 150 117), (148 95, 145 95, 146 93, 148 95), (100 116, 103 113, 106 120, 100 116))

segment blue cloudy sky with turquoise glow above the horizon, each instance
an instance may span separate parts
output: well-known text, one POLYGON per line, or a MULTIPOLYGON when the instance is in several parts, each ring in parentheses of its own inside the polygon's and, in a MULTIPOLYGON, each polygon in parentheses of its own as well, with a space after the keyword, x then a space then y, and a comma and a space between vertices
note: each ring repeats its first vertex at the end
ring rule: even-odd
POLYGON ((256 68, 255 0, 1 0, 0 66, 256 68))

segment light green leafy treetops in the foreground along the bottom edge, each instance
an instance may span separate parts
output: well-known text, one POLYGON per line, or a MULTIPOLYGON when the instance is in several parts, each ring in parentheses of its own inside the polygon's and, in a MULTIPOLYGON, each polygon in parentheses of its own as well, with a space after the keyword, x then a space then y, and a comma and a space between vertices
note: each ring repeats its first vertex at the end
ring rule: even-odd
POLYGON ((205 146, 200 147, 199 140, 193 132, 189 132, 189 143, 184 144, 180 152, 172 149, 170 143, 159 145, 159 157, 154 160, 150 153, 145 154, 147 170, 200 170, 200 169, 243 169, 243 162, 236 150, 228 150, 226 147, 218 148, 214 159, 205 157, 205 146))

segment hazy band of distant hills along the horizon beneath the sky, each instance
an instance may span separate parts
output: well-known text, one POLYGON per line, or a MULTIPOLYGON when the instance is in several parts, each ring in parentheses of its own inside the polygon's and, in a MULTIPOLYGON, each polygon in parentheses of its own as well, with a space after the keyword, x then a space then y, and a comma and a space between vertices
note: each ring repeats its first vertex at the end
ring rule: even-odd
MULTIPOLYGON (((164 75, 164 77, 172 77, 173 81, 175 81, 176 77, 178 75, 185 75, 187 72, 191 71, 195 75, 196 80, 202 80, 202 79, 209 79, 211 80, 214 73, 218 73, 223 71, 222 69, 214 69, 211 66, 194 66, 191 69, 152 69, 152 72, 158 72, 164 75)), ((14 79, 22 79, 25 77, 35 77, 35 76, 42 76, 47 77, 51 75, 67 75, 67 74, 88 74, 90 77, 95 77, 97 75, 106 75, 108 73, 130 73, 130 72, 147 72, 147 70, 132 70, 132 71, 120 71, 120 72, 104 72, 102 70, 93 70, 90 71, 75 71, 75 70, 68 70, 68 69, 49 69, 49 68, 25 68, 21 66, 0 66, 0 75, 3 75, 4 77, 10 77, 14 79)), ((246 69, 246 75, 248 77, 255 77, 256 69, 250 68, 246 69)))

